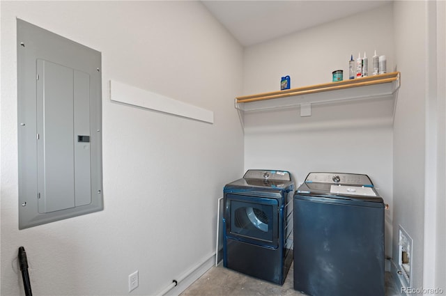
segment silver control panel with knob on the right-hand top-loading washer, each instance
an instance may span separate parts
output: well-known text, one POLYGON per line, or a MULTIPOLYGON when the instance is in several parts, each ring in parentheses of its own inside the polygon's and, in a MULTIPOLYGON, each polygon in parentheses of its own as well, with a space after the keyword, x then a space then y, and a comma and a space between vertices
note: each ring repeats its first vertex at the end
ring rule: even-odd
POLYGON ((331 183, 339 185, 368 185, 373 187, 369 176, 357 173, 309 173, 305 182, 331 183))

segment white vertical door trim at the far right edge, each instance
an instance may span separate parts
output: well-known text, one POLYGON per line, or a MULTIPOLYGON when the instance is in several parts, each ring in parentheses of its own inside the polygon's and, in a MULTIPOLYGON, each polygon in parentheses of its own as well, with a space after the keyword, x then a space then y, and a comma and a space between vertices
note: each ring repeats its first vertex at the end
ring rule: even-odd
POLYGON ((446 290, 446 3, 426 3, 426 176, 423 286, 446 290))

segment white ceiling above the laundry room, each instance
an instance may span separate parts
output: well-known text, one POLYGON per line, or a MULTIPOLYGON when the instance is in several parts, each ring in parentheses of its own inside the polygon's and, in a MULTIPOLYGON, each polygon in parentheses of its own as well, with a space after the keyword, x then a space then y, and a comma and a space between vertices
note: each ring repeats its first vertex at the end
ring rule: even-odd
POLYGON ((202 1, 243 46, 383 6, 390 0, 202 1))

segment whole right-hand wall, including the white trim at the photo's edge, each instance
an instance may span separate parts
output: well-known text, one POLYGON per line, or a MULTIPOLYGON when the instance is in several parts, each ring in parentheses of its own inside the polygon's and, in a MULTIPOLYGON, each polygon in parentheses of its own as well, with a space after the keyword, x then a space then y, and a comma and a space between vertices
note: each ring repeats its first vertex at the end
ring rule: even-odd
POLYGON ((408 74, 394 123, 393 260, 401 227, 413 242, 410 287, 436 294, 446 290, 445 15, 444 1, 394 2, 395 57, 408 74))

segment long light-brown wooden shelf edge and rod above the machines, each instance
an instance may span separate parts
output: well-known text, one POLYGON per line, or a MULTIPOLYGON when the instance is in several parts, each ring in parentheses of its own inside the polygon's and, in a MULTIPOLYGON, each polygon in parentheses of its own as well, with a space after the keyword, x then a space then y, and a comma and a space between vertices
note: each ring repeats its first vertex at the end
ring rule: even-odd
POLYGON ((321 93, 325 91, 337 91, 347 88, 355 88, 360 86, 372 86, 376 84, 389 84, 397 81, 397 88, 399 87, 399 72, 391 72, 381 75, 361 77, 357 79, 349 79, 337 82, 330 82, 327 84, 316 84, 312 86, 302 86, 299 88, 291 88, 284 91, 272 91, 269 93, 259 93, 256 95, 243 95, 236 98, 237 103, 248 103, 262 100, 272 100, 277 98, 286 98, 295 95, 309 95, 312 93, 321 93))

